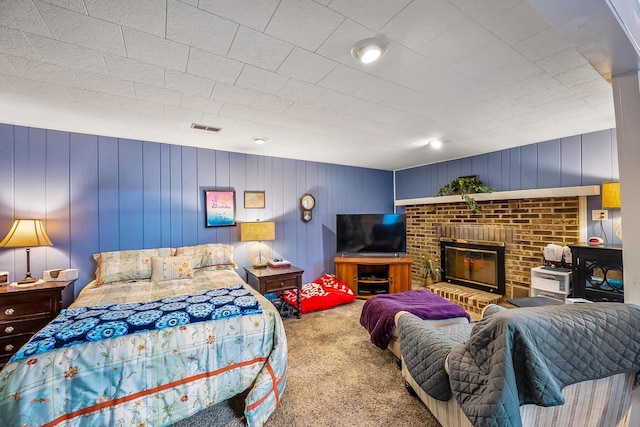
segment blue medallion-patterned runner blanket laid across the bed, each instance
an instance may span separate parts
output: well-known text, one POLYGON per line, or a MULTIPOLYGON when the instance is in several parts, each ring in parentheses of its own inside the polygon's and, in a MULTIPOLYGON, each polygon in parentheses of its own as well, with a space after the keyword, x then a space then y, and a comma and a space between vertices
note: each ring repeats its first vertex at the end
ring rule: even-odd
POLYGON ((241 284, 152 302, 67 309, 34 335, 11 361, 88 341, 261 312, 256 297, 241 284))

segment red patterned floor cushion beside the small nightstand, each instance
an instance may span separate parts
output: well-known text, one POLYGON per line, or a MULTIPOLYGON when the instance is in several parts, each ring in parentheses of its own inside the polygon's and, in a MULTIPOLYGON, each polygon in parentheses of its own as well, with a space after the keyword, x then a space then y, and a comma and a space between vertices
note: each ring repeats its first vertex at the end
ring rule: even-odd
MULTIPOLYGON (((298 308, 296 289, 284 291, 283 298, 287 304, 298 308)), ((302 285, 300 311, 305 314, 311 311, 326 310, 337 305, 351 303, 355 299, 356 296, 349 285, 336 279, 333 274, 325 274, 311 283, 302 285)))

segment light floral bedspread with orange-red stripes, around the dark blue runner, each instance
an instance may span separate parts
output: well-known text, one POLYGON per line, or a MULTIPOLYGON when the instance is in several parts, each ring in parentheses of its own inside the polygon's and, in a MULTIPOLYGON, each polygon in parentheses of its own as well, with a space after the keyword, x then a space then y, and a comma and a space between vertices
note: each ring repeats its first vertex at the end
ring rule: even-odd
MULTIPOLYGON (((193 280, 87 285, 71 308, 150 302, 244 283, 233 270, 193 280)), ((249 426, 275 410, 287 378, 280 315, 262 313, 77 344, 8 363, 0 371, 0 426, 167 426, 251 389, 249 426)))

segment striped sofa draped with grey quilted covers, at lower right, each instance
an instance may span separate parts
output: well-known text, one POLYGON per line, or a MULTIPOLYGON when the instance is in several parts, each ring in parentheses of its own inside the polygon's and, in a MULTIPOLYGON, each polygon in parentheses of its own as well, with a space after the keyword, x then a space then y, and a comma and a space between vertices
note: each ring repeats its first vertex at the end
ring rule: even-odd
POLYGON ((407 387, 443 426, 629 425, 638 306, 490 305, 471 324, 395 322, 407 387))

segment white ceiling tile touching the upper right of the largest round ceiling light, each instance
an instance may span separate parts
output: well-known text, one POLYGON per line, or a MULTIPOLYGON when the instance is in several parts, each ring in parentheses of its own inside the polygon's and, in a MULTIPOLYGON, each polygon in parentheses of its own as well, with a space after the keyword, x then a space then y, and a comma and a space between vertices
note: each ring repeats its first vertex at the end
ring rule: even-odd
POLYGON ((418 50, 464 19, 465 15, 447 0, 412 1, 382 27, 381 33, 418 50))

